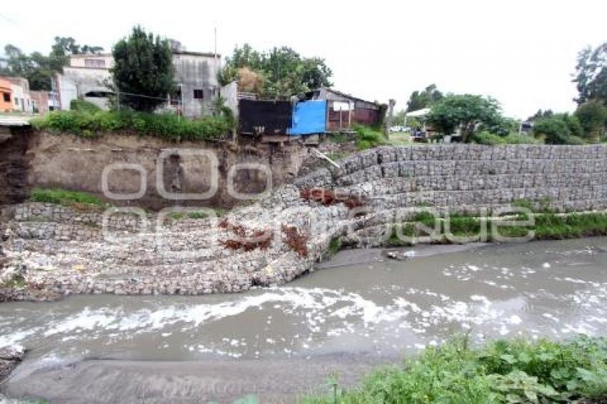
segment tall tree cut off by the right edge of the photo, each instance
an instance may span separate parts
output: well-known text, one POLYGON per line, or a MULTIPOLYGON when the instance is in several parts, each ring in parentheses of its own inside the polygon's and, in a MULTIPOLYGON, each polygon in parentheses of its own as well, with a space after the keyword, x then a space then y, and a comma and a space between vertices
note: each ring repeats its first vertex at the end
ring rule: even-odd
POLYGON ((607 42, 578 53, 573 82, 578 89, 578 98, 574 99, 578 105, 591 100, 607 104, 607 42))

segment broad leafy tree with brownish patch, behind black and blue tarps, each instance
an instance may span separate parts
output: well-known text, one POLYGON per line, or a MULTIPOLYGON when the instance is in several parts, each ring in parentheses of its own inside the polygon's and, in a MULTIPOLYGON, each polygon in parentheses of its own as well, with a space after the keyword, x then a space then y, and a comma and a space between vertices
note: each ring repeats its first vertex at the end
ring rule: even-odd
POLYGON ((259 52, 249 44, 236 46, 226 66, 218 75, 221 84, 242 81, 242 74, 256 75, 254 86, 259 95, 267 98, 288 98, 323 86, 331 86, 332 72, 324 59, 304 58, 287 46, 259 52), (261 87, 261 90, 259 88, 261 87))

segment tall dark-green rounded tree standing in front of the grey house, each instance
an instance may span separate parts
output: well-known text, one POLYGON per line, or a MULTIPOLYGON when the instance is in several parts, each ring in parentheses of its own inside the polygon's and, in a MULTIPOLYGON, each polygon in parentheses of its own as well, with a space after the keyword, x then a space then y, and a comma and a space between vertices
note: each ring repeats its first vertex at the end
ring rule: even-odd
POLYGON ((153 111, 166 101, 174 89, 174 68, 169 41, 147 34, 135 26, 129 38, 121 39, 114 49, 111 69, 119 103, 136 111, 153 111))

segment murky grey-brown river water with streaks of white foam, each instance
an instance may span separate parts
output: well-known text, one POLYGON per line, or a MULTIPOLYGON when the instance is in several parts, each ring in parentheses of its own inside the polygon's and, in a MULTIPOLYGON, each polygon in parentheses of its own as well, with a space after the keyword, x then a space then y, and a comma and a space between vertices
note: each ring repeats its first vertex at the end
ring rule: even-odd
POLYGON ((57 403, 293 403, 329 375, 355 383, 456 333, 605 334, 606 303, 607 238, 419 248, 406 261, 342 251, 243 294, 0 305, 0 346, 30 349, 0 388, 57 403))

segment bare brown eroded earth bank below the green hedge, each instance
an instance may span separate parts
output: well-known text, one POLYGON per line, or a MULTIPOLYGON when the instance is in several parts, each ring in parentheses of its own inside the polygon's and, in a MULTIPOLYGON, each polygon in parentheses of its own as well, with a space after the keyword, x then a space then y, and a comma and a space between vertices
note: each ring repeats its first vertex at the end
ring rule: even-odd
POLYGON ((294 178, 308 154, 299 143, 281 146, 246 139, 171 143, 113 134, 81 138, 34 133, 31 137, 31 185, 104 196, 105 171, 106 188, 112 193, 136 194, 144 189, 143 196, 114 199, 114 205, 153 210, 167 206, 231 208, 294 178), (198 196, 181 199, 184 194, 198 196))

